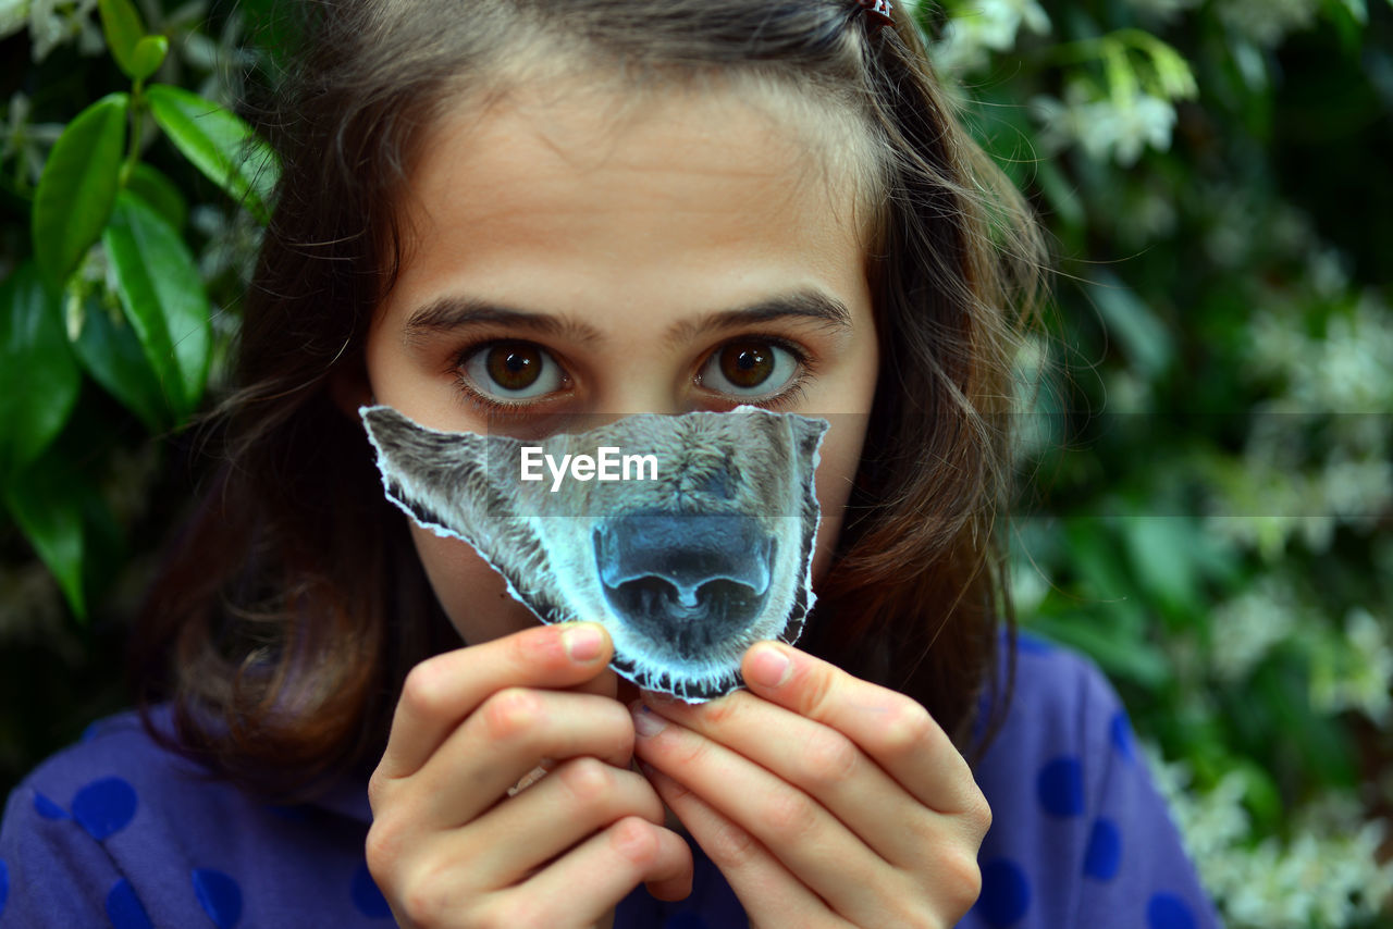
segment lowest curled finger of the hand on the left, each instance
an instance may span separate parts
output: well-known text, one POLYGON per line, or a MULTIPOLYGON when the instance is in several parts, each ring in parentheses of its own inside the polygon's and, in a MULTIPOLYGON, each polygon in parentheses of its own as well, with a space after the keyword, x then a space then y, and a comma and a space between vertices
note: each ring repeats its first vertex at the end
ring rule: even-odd
POLYGON ((506 919, 496 925, 591 925, 641 883, 657 887, 663 900, 681 900, 691 879, 692 854, 677 833, 625 816, 497 894, 506 919), (518 912, 527 918, 510 918, 518 912))

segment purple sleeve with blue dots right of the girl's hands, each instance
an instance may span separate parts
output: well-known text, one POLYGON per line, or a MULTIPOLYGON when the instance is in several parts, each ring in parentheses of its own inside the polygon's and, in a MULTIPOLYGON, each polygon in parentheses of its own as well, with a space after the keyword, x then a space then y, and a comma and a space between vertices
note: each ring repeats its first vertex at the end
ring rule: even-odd
POLYGON ((1212 929, 1219 915, 1087 659, 1022 639, 1015 692, 976 769, 993 825, 960 929, 1212 929))

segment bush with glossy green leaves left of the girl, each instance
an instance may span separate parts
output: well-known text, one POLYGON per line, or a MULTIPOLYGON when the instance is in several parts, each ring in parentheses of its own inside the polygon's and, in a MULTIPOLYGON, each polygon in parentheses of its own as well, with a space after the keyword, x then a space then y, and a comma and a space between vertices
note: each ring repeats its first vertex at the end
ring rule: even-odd
POLYGON ((123 625, 188 496, 169 462, 221 379, 276 173, 217 74, 258 61, 240 22, 0 0, 6 790, 120 705, 123 625))

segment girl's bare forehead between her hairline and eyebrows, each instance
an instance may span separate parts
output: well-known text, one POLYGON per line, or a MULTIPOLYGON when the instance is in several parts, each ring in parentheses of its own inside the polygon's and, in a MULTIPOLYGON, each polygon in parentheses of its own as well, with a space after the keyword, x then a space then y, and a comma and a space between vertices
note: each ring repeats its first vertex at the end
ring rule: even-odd
POLYGON ((761 277, 862 286, 858 146, 788 103, 736 88, 524 86, 446 106, 407 177, 389 308, 451 281, 575 311, 599 292, 720 302, 776 286, 761 277))

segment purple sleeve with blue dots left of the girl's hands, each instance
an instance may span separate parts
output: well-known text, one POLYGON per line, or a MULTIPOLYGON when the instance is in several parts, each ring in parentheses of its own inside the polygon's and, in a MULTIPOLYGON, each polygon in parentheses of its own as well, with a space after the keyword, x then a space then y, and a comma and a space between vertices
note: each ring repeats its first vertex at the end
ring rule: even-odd
POLYGON ((366 783, 340 787, 274 805, 166 751, 134 713, 102 720, 10 795, 0 929, 391 925, 364 861, 366 783))

